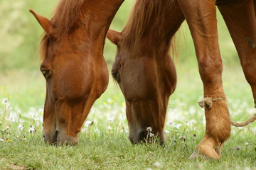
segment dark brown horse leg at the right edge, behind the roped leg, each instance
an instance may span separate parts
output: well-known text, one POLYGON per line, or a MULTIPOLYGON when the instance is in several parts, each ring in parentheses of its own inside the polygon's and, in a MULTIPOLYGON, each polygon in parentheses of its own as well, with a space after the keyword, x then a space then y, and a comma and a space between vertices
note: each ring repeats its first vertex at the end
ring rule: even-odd
POLYGON ((256 107, 256 20, 253 1, 244 1, 233 6, 222 5, 218 8, 235 43, 256 107))

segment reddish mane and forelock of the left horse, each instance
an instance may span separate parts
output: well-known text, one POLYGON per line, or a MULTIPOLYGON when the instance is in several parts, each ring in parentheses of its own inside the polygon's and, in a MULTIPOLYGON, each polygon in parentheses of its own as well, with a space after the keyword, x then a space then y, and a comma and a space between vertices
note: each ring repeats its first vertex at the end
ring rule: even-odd
MULTIPOLYGON (((70 33, 75 30, 75 25, 82 16, 82 4, 86 0, 60 0, 58 1, 53 17, 50 22, 53 24, 54 36, 56 40, 63 41, 70 33)), ((50 40, 46 33, 41 36, 40 56, 41 60, 46 57, 48 42, 50 40)))

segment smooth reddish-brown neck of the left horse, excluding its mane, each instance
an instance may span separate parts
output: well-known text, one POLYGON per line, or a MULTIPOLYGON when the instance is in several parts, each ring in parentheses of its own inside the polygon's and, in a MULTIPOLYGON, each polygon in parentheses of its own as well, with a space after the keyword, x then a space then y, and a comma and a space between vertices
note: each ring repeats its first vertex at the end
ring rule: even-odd
MULTIPOLYGON (((77 38, 88 44, 87 50, 103 53, 107 30, 124 0, 85 0, 78 19, 77 38)), ((71 35, 73 36, 73 35, 71 35)))

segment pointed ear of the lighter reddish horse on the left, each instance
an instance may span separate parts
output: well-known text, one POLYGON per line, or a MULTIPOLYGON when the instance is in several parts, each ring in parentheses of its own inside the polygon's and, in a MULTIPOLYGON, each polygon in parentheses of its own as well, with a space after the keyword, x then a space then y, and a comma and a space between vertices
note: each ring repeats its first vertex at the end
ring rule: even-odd
POLYGON ((38 15, 38 13, 36 13, 35 11, 33 11, 32 9, 29 10, 33 16, 36 18, 36 20, 38 21, 38 23, 40 23, 40 25, 42 26, 43 30, 46 31, 46 34, 50 37, 53 37, 53 25, 52 23, 50 23, 50 21, 48 20, 48 18, 45 18, 43 16, 38 15))

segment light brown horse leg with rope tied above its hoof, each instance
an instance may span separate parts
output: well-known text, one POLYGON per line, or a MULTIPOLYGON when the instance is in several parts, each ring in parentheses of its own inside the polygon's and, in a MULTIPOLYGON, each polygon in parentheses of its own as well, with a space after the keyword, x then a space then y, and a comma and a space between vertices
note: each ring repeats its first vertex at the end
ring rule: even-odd
MULTIPOLYGON (((198 69, 203 81, 204 97, 225 98, 222 83, 222 60, 214 0, 178 0, 196 48, 198 69)), ((205 108, 206 134, 190 158, 198 153, 218 159, 220 146, 230 137, 230 116, 225 100, 214 101, 205 108)))

